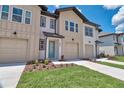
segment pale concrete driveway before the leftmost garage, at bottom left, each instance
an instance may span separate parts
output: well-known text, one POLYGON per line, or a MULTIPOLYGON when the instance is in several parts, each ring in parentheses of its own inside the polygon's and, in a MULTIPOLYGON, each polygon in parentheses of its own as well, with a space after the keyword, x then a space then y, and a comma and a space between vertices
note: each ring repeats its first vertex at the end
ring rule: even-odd
POLYGON ((15 88, 25 63, 0 64, 0 88, 15 88))

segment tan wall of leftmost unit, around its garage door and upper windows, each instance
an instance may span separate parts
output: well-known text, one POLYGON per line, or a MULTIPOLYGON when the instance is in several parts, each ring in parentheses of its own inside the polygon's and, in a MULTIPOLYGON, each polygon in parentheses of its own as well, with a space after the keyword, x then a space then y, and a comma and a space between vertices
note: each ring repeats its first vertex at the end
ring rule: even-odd
MULTIPOLYGON (((26 9, 32 12, 31 24, 13 22, 9 20, 0 20, 0 38, 15 38, 26 39, 27 46, 27 61, 38 59, 39 56, 39 35, 40 35, 40 7, 35 5, 13 5, 21 9, 26 9), (14 35, 13 32, 17 32, 14 35)), ((12 9, 13 6, 10 6, 12 9)), ((10 10, 10 14, 12 10, 10 10)))

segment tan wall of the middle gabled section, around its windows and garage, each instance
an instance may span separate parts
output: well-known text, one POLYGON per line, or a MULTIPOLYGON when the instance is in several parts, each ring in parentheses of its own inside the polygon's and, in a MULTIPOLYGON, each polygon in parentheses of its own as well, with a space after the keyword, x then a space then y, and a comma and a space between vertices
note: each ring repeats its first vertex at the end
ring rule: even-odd
MULTIPOLYGON (((65 38, 62 40, 62 55, 65 55, 66 50, 66 43, 77 43, 79 45, 79 58, 83 58, 83 27, 82 19, 75 14, 72 10, 60 12, 60 16, 58 19, 58 33, 63 35, 65 38), (78 24, 78 33, 71 32, 70 30, 65 30, 65 20, 68 22, 74 22, 78 24), (72 41, 72 39, 74 39, 72 41)), ((70 28, 69 28, 70 29, 70 28)), ((73 50, 72 50, 73 51, 73 50)), ((71 54, 70 54, 71 55, 71 54)))

